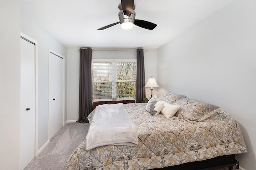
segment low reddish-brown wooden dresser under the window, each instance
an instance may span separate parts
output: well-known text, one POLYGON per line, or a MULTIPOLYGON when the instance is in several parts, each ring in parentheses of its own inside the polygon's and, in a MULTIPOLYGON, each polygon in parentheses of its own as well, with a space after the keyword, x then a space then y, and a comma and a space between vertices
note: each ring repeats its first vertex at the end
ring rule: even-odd
POLYGON ((98 105, 103 104, 116 104, 116 103, 135 103, 135 99, 133 97, 125 97, 125 98, 113 98, 113 99, 94 99, 93 101, 93 109, 95 109, 98 105))

